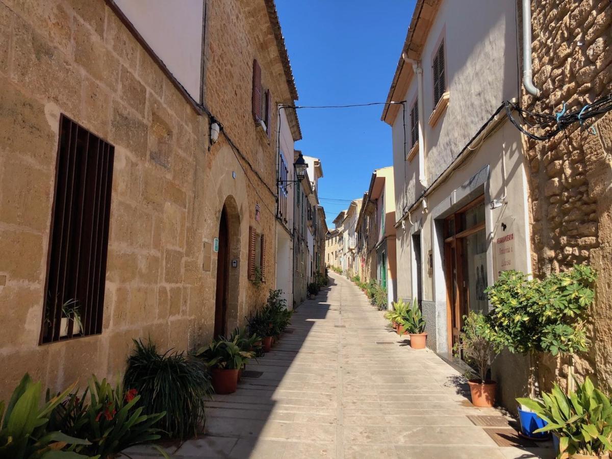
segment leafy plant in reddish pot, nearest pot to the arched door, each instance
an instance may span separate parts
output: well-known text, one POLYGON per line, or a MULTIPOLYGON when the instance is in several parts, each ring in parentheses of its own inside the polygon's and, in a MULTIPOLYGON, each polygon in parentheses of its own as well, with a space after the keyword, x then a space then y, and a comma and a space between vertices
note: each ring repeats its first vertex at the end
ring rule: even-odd
POLYGON ((198 349, 200 357, 211 370, 212 387, 217 394, 233 394, 238 384, 238 371, 253 357, 250 351, 242 351, 237 343, 219 338, 208 346, 198 349))

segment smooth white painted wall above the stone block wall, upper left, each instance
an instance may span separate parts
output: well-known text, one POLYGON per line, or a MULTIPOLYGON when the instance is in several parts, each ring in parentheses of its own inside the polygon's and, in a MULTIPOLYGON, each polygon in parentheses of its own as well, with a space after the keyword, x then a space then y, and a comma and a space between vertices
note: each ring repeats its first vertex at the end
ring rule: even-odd
POLYGON ((200 97, 204 0, 115 0, 168 70, 200 97))

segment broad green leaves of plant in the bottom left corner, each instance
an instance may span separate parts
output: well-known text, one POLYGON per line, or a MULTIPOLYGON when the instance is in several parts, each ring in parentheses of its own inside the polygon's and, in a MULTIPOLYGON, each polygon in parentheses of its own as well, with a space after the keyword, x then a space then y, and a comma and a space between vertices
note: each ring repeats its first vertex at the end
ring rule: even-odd
POLYGON ((9 404, 4 407, 0 402, 0 457, 11 459, 84 458, 85 456, 61 451, 68 445, 86 446, 89 442, 81 438, 66 435, 65 431, 54 430, 50 425, 50 415, 61 401, 74 389, 73 384, 57 397, 47 397, 40 406, 42 385, 34 383, 26 373, 13 391, 9 404))

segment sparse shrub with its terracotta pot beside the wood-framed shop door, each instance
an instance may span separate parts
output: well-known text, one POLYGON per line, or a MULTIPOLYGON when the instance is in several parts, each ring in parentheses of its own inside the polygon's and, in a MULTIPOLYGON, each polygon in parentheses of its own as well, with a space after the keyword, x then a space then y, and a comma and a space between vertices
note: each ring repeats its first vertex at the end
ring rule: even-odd
POLYGON ((499 349, 488 338, 490 329, 485 316, 471 311, 463 318, 465 324, 461 330, 459 343, 453 350, 457 356, 463 357, 469 365, 474 367, 474 370, 468 373, 472 405, 491 408, 495 405, 497 383, 487 379, 487 373, 499 349))

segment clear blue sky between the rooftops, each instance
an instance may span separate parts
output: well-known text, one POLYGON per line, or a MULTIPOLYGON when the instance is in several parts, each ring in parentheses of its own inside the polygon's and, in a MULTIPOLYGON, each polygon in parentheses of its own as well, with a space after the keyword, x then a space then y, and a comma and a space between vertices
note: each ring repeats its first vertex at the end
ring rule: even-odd
MULTIPOLYGON (((298 105, 385 102, 414 0, 277 0, 298 105)), ((360 198, 374 169, 393 163, 383 106, 298 111, 296 149, 321 159, 319 198, 327 225, 360 198)))

